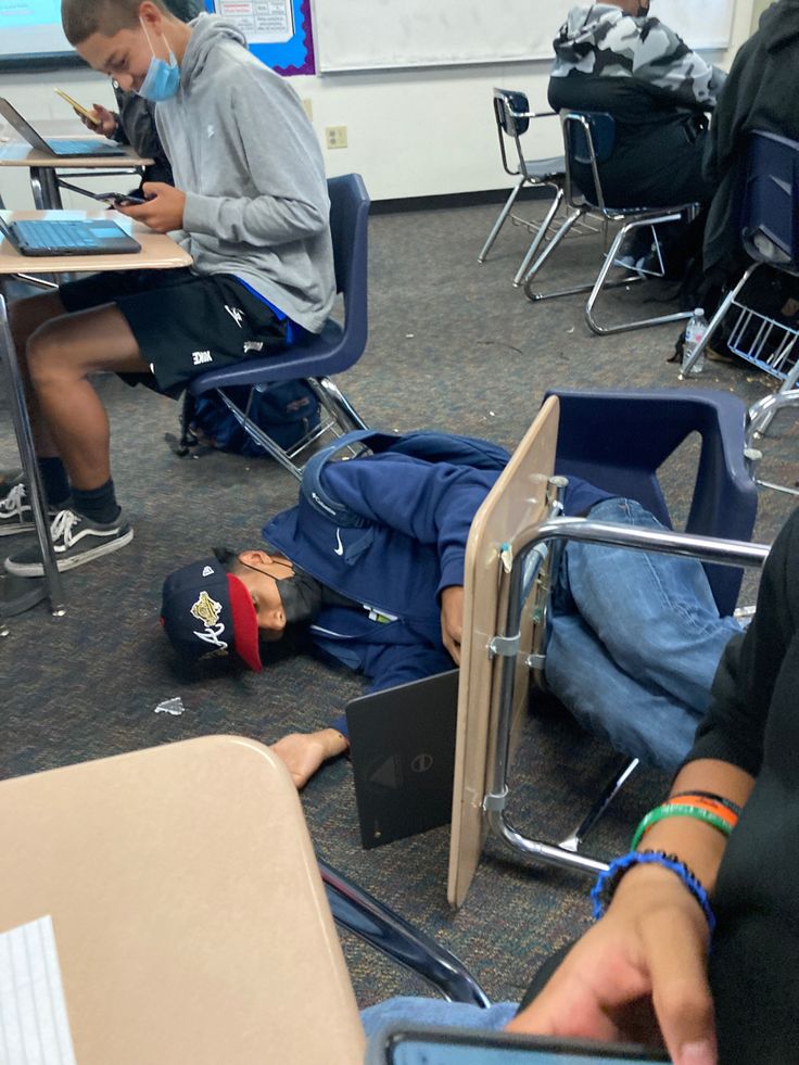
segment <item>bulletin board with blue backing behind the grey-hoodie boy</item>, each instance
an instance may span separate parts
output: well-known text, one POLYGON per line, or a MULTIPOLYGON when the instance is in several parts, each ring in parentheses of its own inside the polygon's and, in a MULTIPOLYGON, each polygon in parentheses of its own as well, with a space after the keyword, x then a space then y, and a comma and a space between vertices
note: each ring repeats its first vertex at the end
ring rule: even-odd
POLYGON ((310 0, 205 0, 241 29, 250 51, 278 74, 315 74, 310 0))

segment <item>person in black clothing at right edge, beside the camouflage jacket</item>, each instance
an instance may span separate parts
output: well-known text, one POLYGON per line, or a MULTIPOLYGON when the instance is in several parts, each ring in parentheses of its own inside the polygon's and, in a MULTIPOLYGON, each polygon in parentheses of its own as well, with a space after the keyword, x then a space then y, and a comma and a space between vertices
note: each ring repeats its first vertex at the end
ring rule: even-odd
POLYGON ((716 189, 702 249, 705 286, 712 293, 701 296, 708 310, 748 262, 736 216, 748 135, 758 129, 799 140, 797 68, 799 0, 777 0, 738 50, 706 138, 705 175, 716 189))

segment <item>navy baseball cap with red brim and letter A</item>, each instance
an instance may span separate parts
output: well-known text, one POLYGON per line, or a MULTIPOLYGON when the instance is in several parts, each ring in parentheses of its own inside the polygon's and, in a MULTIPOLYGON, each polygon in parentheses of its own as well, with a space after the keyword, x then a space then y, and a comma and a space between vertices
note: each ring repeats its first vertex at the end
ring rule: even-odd
POLYGON ((244 584, 215 558, 175 570, 164 581, 161 623, 181 658, 225 657, 233 651, 261 672, 258 621, 244 584))

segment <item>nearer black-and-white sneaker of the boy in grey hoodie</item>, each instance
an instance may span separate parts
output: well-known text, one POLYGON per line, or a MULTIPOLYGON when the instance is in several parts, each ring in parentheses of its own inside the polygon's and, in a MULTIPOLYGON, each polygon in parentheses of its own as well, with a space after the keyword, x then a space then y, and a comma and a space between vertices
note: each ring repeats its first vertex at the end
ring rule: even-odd
MULTIPOLYGON (((118 551, 134 538, 134 530, 123 512, 101 524, 75 510, 59 510, 50 525, 59 572, 85 566, 101 555, 118 551)), ((45 567, 38 544, 5 559, 5 570, 14 576, 43 576, 45 567)))

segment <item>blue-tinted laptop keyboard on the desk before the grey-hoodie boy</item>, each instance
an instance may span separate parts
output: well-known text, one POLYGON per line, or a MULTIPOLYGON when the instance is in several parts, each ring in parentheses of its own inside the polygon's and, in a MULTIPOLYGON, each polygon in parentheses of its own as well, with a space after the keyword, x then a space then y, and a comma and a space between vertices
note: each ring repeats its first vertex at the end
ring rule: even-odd
POLYGON ((22 255, 129 255, 141 244, 105 218, 3 221, 0 234, 22 255))

